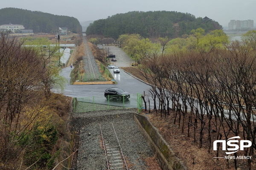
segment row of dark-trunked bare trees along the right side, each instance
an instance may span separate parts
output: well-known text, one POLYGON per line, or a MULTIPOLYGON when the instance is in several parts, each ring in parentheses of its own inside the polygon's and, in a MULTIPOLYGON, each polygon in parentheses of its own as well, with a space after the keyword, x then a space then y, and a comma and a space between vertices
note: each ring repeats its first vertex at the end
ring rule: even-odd
MULTIPOLYGON (((211 34, 200 37, 198 31, 192 31, 194 48, 189 45, 186 50, 173 48, 168 54, 144 55, 138 68, 140 75, 151 84, 143 96, 145 109, 148 105, 160 116, 173 116, 173 124, 178 124, 182 133, 193 138, 200 148, 206 145, 215 157, 223 157, 225 153, 220 144, 213 151, 213 141, 233 136, 250 140, 252 146, 240 153, 253 156, 256 150, 256 31, 248 31, 242 41, 215 43, 215 48, 212 41, 208 41, 208 46, 204 42, 212 40, 211 34)), ((238 153, 233 155, 237 157, 238 153)), ((252 159, 246 161, 247 169, 252 169, 252 159)), ((234 159, 235 169, 239 164, 241 160, 234 159)))

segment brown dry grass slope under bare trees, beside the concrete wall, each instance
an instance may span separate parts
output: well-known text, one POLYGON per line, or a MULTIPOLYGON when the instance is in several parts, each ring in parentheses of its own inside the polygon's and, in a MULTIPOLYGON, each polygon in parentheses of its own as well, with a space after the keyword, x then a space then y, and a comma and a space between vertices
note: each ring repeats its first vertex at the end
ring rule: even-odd
MULTIPOLYGON (((145 114, 145 113, 143 113, 145 114)), ((145 114, 149 117, 150 121, 155 127, 159 130, 160 134, 170 145, 175 155, 183 161, 183 163, 188 167, 188 170, 234 170, 234 164, 232 161, 228 162, 227 159, 219 159, 218 161, 213 157, 216 156, 216 151, 213 151, 211 147, 210 153, 208 153, 209 141, 207 139, 208 130, 205 127, 204 129, 204 139, 203 147, 199 147, 199 131, 196 131, 196 143, 193 140, 193 127, 190 127, 190 136, 187 137, 187 124, 184 128, 184 133, 181 132, 181 128, 178 127, 177 122, 174 125, 174 116, 167 115, 166 118, 160 117, 160 113, 156 116, 156 113, 145 114), (193 164, 195 161, 195 164, 193 164)), ((193 119, 193 118, 192 118, 193 119)), ((177 121, 177 120, 176 120, 177 121)), ((224 125, 226 130, 228 129, 227 125, 224 125)), ((200 123, 198 124, 198 129, 200 128, 200 123)), ((221 132, 222 133, 222 132, 221 132)), ((233 134, 230 134, 230 137, 233 134)), ((242 135, 242 134, 241 134, 242 135)), ((241 136, 240 135, 240 136, 241 136)), ((216 140, 216 133, 211 133, 212 142, 216 140)), ((213 145, 212 145, 213 146, 213 145)), ((220 156, 225 155, 224 151, 220 151, 220 156)), ((233 155, 232 155, 233 156, 233 155)), ((238 152, 238 156, 244 156, 243 151, 238 152)), ((253 156, 254 160, 256 156, 253 156)), ((240 170, 246 170, 247 160, 239 160, 238 168, 240 170)), ((256 169, 256 163, 252 162, 252 170, 256 169)), ((238 169, 239 170, 239 169, 238 169)))

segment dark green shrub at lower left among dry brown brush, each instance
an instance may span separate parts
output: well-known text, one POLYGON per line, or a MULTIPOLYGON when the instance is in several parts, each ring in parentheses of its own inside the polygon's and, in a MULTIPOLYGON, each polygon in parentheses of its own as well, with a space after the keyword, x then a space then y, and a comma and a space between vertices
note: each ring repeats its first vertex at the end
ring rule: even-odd
POLYGON ((59 150, 53 150, 57 140, 58 131, 51 122, 36 125, 32 131, 23 133, 19 145, 26 148, 25 164, 30 166, 36 162, 31 169, 50 169, 59 154, 59 150))

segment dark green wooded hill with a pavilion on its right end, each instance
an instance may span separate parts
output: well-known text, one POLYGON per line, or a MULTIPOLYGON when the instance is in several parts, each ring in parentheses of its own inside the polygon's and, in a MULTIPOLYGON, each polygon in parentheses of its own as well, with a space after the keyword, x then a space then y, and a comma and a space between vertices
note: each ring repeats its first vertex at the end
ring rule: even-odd
POLYGON ((192 29, 206 32, 221 29, 215 21, 203 22, 189 13, 177 11, 131 11, 96 20, 87 27, 87 35, 103 35, 117 39, 122 34, 140 34, 142 37, 180 37, 192 29))

